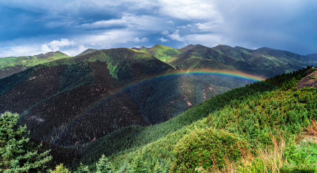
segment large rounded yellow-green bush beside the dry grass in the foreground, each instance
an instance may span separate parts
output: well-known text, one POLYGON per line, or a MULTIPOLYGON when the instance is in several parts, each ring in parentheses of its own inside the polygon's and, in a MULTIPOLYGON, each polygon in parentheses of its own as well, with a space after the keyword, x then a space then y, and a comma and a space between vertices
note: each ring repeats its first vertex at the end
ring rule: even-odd
POLYGON ((235 134, 212 128, 195 129, 174 146, 172 172, 194 172, 196 168, 223 168, 226 159, 237 160, 244 142, 235 134), (175 170, 174 170, 175 169, 175 170))

